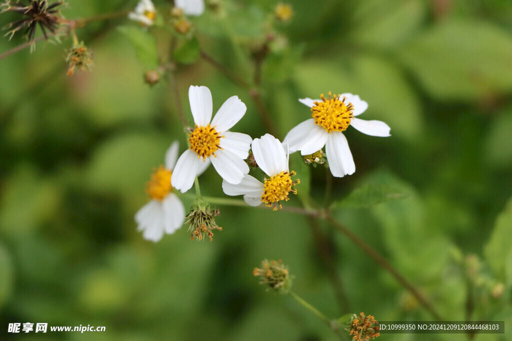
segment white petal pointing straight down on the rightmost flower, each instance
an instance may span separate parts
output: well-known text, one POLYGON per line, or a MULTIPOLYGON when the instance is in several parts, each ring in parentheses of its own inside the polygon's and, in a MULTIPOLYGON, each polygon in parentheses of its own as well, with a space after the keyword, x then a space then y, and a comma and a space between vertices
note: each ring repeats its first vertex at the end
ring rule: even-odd
POLYGON ((354 158, 350 152, 347 138, 342 132, 333 131, 329 135, 325 151, 332 175, 343 177, 355 172, 354 158))

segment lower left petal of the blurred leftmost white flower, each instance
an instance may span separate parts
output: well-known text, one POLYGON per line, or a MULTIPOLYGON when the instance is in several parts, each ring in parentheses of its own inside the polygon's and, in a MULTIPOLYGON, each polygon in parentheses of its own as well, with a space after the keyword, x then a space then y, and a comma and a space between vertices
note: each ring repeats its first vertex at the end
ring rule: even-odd
POLYGON ((160 201, 151 200, 146 203, 135 215, 138 231, 143 231, 142 237, 153 242, 163 236, 163 208, 160 201))

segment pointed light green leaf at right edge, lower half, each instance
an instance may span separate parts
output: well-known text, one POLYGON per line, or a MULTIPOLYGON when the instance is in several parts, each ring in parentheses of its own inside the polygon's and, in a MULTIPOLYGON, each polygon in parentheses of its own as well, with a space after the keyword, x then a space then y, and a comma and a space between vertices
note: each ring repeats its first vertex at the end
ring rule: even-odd
POLYGON ((494 231, 484 247, 484 255, 500 280, 505 278, 507 256, 512 250, 512 198, 498 215, 494 231))

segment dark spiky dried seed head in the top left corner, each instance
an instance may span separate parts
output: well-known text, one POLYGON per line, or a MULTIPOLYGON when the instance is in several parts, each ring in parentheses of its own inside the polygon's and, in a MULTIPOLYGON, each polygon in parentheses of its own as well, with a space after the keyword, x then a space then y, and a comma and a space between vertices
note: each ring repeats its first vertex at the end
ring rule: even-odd
MULTIPOLYGON (((18 2, 16 2, 16 4, 17 3, 18 2)), ((3 8, 0 13, 15 12, 25 16, 25 18, 11 22, 11 24, 4 27, 4 30, 14 27, 6 33, 6 35, 10 35, 9 40, 12 38, 14 33, 26 27, 25 35, 29 41, 34 41, 37 24, 39 24, 42 33, 48 40, 48 33, 46 32, 46 29, 48 29, 52 34, 56 33, 61 17, 59 16, 60 10, 56 10, 55 8, 62 4, 64 4, 63 1, 57 1, 48 5, 46 0, 31 0, 29 1, 28 6, 11 6, 10 0, 7 0, 6 3, 0 5, 0 8, 3 8)))

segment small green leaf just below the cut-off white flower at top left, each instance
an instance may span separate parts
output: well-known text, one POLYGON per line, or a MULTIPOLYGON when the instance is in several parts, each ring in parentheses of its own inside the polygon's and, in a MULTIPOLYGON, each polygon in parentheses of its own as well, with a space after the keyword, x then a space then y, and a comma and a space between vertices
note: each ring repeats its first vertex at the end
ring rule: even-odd
POLYGON ((117 30, 133 44, 140 62, 150 69, 158 66, 157 40, 154 35, 134 26, 120 26, 117 30))

